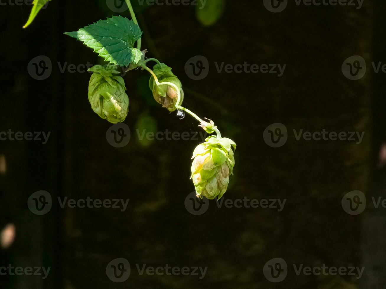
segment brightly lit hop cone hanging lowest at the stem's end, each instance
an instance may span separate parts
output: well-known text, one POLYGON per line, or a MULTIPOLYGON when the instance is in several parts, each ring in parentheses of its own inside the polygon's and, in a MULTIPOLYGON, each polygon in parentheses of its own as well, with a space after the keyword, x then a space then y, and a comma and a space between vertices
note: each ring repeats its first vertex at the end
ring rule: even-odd
POLYGON ((196 147, 192 156, 191 178, 197 197, 220 199, 227 191, 229 176, 233 174, 235 165, 232 146, 236 150, 232 139, 209 136, 205 143, 196 147))

